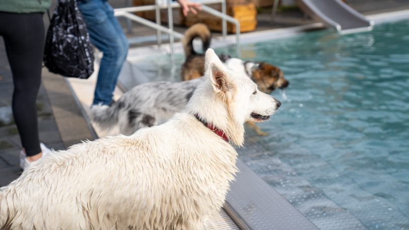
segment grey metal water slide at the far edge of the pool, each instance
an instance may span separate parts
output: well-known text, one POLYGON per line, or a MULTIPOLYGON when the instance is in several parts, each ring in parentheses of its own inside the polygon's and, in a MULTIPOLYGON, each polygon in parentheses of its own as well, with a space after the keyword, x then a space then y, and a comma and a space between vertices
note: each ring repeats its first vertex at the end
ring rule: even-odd
POLYGON ((314 19, 340 33, 372 30, 373 22, 341 0, 296 0, 300 8, 314 19))

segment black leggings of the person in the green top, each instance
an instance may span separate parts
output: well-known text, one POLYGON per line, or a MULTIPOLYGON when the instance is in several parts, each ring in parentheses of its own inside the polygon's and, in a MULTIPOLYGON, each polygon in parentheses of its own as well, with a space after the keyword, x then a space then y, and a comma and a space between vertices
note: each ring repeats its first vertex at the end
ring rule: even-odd
POLYGON ((41 152, 36 98, 41 83, 44 24, 41 13, 0 12, 3 36, 13 74, 13 116, 27 156, 41 152))

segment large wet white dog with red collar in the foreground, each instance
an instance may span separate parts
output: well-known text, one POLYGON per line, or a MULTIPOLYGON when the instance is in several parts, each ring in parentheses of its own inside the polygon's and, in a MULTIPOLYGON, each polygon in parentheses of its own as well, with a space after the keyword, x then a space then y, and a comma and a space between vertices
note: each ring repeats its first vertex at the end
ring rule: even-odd
POLYGON ((1 188, 0 228, 203 229, 234 179, 243 123, 280 106, 212 49, 206 61, 183 113, 54 152, 1 188))

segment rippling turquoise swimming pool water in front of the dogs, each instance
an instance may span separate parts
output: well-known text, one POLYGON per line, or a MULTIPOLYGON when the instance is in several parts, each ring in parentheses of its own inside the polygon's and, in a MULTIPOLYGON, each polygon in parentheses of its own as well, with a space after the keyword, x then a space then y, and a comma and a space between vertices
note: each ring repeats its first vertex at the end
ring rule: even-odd
MULTIPOLYGON (((409 229, 409 21, 245 44, 241 54, 281 67, 290 86, 271 94, 282 106, 259 125, 270 135, 247 130, 240 158, 320 229, 409 229)), ((156 58, 147 72, 179 80, 183 58, 156 58)))

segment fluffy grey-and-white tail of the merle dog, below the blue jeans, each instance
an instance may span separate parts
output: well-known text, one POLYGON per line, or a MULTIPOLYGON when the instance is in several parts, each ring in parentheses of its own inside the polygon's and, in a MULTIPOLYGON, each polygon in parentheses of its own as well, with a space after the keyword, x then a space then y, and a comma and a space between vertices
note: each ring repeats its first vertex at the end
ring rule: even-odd
POLYGON ((102 129, 111 129, 118 123, 118 113, 120 103, 114 103, 110 107, 106 105, 94 105, 91 107, 91 120, 97 123, 102 129))

